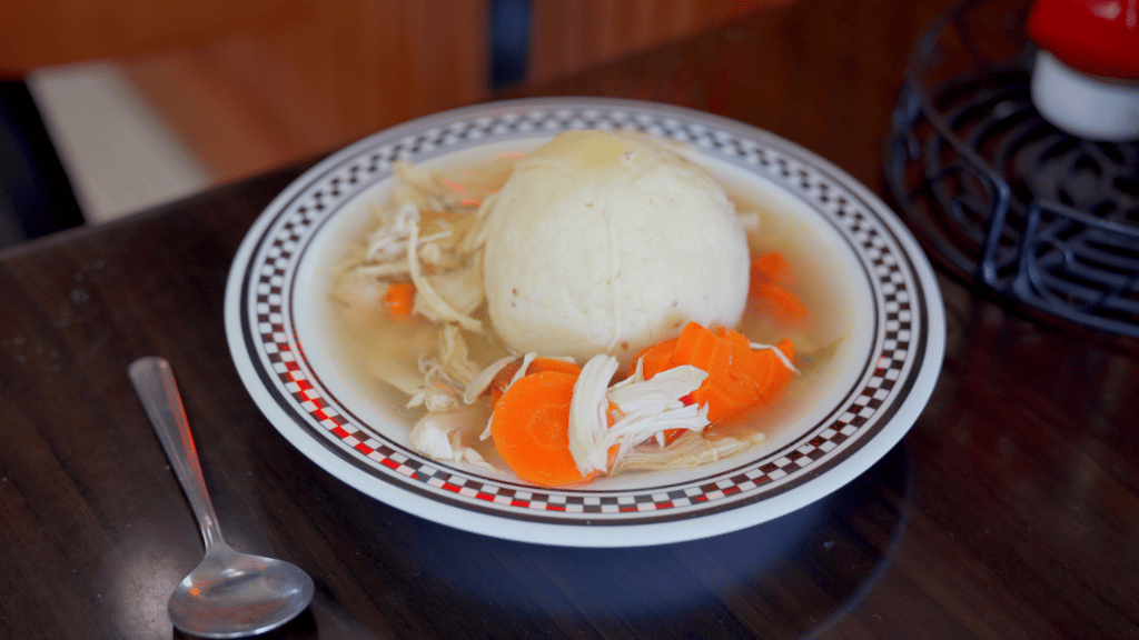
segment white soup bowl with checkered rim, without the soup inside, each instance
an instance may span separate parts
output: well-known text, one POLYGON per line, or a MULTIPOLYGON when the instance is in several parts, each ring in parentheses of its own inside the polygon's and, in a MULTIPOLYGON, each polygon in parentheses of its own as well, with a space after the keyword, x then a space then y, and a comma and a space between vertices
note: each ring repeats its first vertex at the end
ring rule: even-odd
MULTIPOLYGON (((254 401, 294 446, 393 507, 499 538, 577 547, 693 540, 756 525, 842 487, 925 408, 945 320, 928 261, 870 190, 777 136, 708 114, 628 100, 480 105, 379 132, 321 162, 247 233, 230 271, 226 329, 254 401), (435 166, 535 148, 568 129, 634 129, 691 157, 757 204, 794 218, 842 281, 849 333, 811 402, 769 442, 695 469, 542 489, 507 471, 437 462, 408 442, 416 416, 347 374, 328 320, 327 265, 392 184, 392 164, 435 166)), ((790 392, 788 392, 790 393, 790 392)), ((405 399, 404 399, 405 400, 405 399)))

